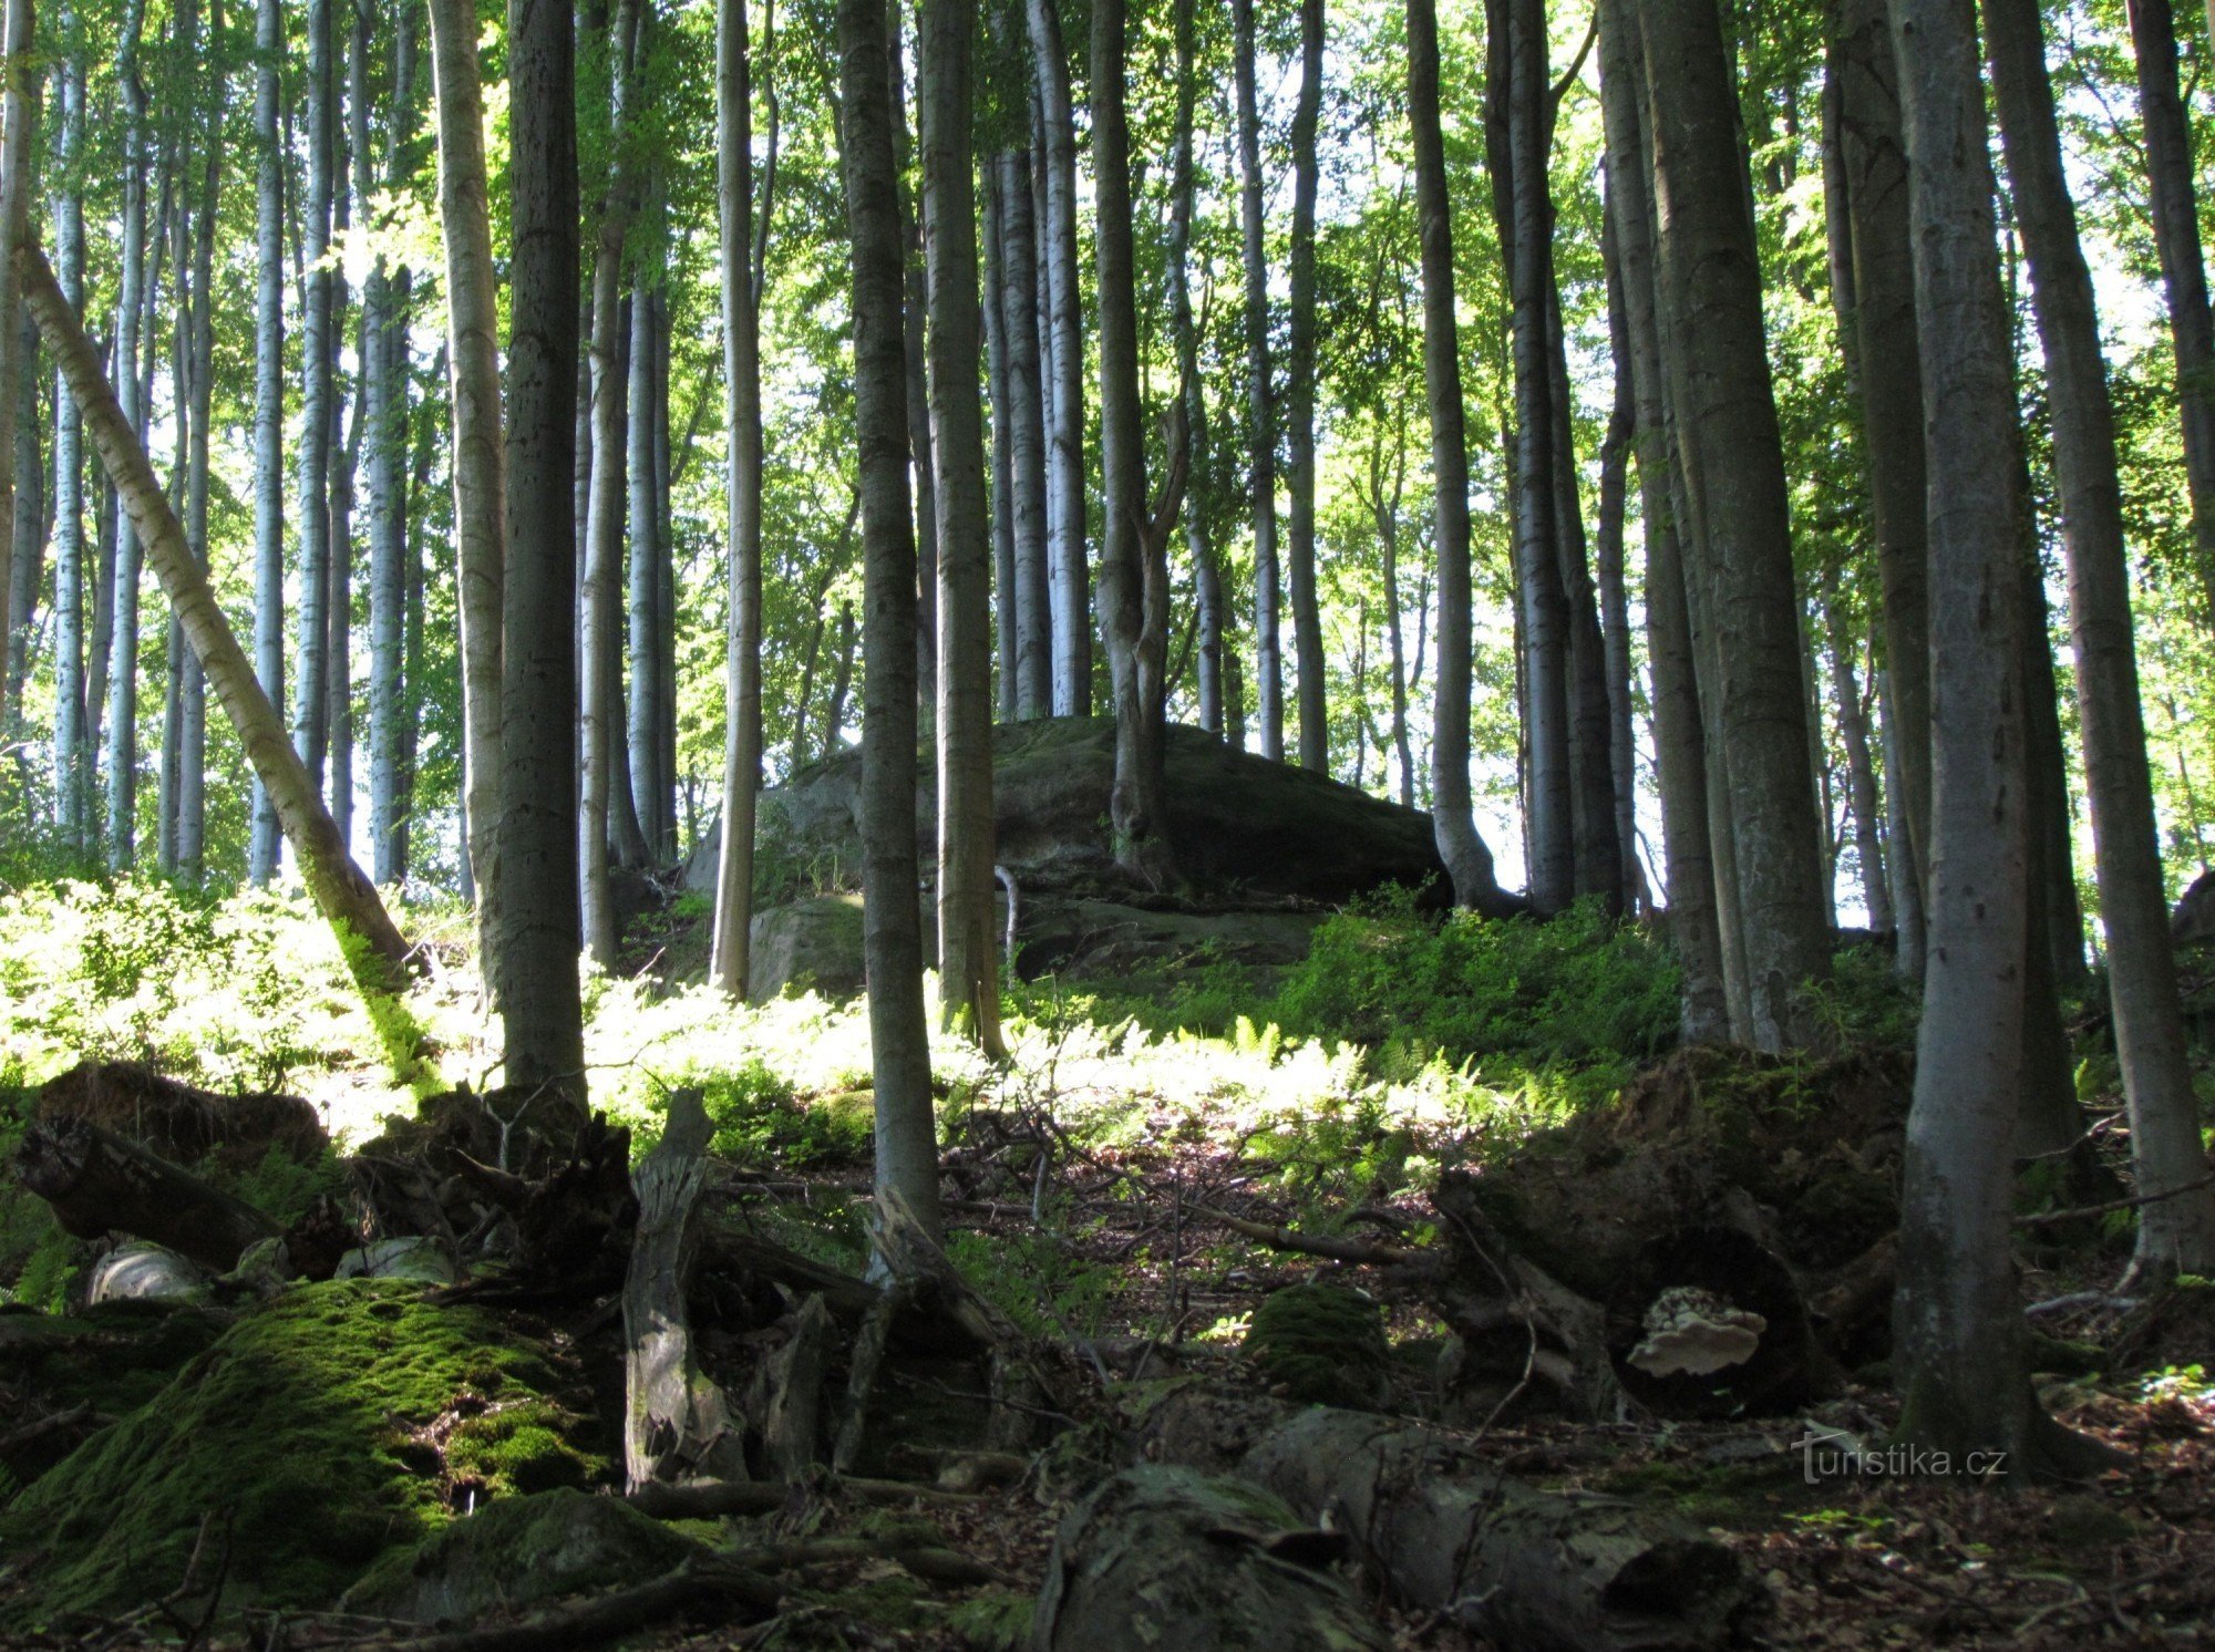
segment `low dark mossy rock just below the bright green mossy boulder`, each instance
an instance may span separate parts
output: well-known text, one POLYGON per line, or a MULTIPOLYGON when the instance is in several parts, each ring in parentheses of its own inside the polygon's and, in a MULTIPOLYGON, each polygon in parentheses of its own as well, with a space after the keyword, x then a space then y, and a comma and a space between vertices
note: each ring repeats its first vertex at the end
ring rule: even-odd
POLYGON ((645 1583, 702 1552, 620 1497, 498 1497, 414 1548, 388 1550, 343 1599, 405 1623, 472 1623, 585 1590, 645 1583))

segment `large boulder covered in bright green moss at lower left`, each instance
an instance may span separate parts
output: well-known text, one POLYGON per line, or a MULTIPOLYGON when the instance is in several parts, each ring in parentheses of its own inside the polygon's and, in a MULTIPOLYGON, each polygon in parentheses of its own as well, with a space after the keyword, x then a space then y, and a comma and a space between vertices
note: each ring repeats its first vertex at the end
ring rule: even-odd
POLYGON ((571 1382, 501 1318, 421 1287, 299 1287, 0 1510, 0 1552, 35 1555, 0 1628, 177 1588, 208 1515, 226 1608, 323 1605, 459 1504, 602 1475, 571 1382))

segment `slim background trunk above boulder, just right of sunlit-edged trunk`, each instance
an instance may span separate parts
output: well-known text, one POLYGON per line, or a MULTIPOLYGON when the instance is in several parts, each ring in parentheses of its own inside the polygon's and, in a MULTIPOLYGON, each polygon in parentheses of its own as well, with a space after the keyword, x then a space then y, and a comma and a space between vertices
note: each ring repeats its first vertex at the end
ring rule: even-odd
MULTIPOLYGON (((1014 715, 1054 709, 1054 609, 1048 574, 1048 441, 1039 363, 1039 255, 1030 155, 999 166, 999 332, 1008 359, 1008 529, 1014 551, 1014 715)), ((995 419, 999 410, 995 410, 995 419)))

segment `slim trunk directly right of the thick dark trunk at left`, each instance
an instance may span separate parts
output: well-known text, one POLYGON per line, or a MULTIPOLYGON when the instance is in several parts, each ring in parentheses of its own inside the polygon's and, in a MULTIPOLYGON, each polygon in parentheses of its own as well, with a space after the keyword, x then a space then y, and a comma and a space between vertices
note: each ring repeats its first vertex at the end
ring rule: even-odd
MULTIPOLYGON (((651 4, 651 0, 649 0, 651 4)), ((620 361, 622 241, 638 206, 631 175, 629 128, 636 104, 636 53, 645 35, 640 0, 616 0, 607 24, 611 62, 609 142, 614 164, 598 213, 591 259, 591 483, 585 503, 585 587, 578 624, 578 866, 585 950, 602 970, 616 968, 616 906, 607 873, 611 861, 614 722, 622 706, 622 518, 625 518, 625 379, 620 361)))

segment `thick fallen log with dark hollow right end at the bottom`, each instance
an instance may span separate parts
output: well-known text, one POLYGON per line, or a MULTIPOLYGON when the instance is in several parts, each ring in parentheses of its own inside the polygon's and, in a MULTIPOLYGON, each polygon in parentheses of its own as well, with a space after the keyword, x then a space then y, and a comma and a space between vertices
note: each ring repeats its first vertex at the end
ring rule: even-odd
POLYGON ((1539 1490, 1422 1424, 1183 1388, 1147 1419, 1147 1446, 1229 1468, 1302 1521, 1329 1517, 1393 1599, 1524 1652, 1721 1648, 1756 1592, 1692 1526, 1539 1490))

